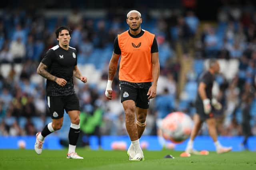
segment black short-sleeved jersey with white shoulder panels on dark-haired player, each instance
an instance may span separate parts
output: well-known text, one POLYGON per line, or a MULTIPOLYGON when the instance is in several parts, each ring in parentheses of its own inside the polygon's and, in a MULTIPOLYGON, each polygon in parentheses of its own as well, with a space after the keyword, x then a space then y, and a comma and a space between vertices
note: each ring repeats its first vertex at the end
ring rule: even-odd
POLYGON ((47 96, 68 96, 74 94, 73 70, 77 64, 76 49, 69 47, 68 50, 56 45, 49 49, 41 63, 47 66, 47 71, 67 81, 65 86, 60 86, 56 82, 46 80, 47 96))

